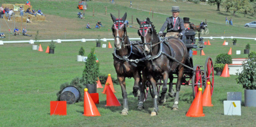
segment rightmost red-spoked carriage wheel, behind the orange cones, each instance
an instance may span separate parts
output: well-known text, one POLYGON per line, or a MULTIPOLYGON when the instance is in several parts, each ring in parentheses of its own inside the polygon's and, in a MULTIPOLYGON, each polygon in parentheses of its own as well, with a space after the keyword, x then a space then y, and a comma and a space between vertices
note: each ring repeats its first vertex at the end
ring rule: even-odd
POLYGON ((204 86, 206 87, 207 82, 211 82, 211 95, 213 95, 213 86, 214 86, 214 69, 213 61, 211 57, 207 57, 205 61, 205 70, 204 70, 204 86))

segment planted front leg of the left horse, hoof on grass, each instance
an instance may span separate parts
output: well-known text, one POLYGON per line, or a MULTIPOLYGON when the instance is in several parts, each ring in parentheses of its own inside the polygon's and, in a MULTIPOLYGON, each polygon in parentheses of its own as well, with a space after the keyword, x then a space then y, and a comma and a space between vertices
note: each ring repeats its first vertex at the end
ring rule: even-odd
POLYGON ((121 115, 128 115, 128 99, 127 99, 127 92, 126 92, 126 88, 125 88, 125 77, 124 76, 117 76, 117 79, 119 81, 119 84, 121 86, 121 90, 122 90, 122 96, 123 96, 123 107, 124 109, 121 111, 121 115))

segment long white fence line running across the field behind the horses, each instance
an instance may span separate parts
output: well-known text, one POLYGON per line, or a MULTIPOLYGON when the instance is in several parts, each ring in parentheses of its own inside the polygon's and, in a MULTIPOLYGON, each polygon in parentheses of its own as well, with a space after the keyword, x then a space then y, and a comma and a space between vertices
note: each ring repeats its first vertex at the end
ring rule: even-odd
MULTIPOLYGON (((196 37, 198 39, 198 37, 196 37)), ((255 40, 256 38, 250 38, 250 37, 203 37, 204 39, 224 39, 224 38, 238 38, 238 39, 251 39, 251 40, 255 40)), ((129 38, 130 40, 141 40, 141 38, 129 38)), ((65 41, 81 41, 81 42, 86 42, 86 41, 97 41, 97 39, 69 39, 69 40, 62 40, 62 39, 57 39, 57 40, 38 40, 37 42, 51 42, 51 41, 55 41, 57 43, 61 43, 61 42, 65 42, 65 41)), ((111 39, 106 39, 103 38, 101 39, 101 41, 114 41, 113 38, 111 39)), ((26 41, 0 41, 0 45, 4 45, 4 43, 30 43, 30 44, 34 44, 35 40, 26 40, 26 41)))

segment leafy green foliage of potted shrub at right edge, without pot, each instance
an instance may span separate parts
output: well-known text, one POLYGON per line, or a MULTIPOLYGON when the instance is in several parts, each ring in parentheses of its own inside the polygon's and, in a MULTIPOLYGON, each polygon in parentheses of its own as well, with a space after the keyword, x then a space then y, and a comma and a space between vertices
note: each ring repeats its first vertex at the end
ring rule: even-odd
POLYGON ((256 90, 256 52, 248 55, 249 59, 242 64, 243 71, 236 73, 236 82, 247 90, 256 90))

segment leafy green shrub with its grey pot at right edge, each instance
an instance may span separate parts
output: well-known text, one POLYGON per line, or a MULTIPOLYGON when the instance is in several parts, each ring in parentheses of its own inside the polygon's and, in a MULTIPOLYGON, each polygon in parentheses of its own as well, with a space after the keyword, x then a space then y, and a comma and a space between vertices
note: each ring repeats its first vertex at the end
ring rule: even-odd
POLYGON ((243 86, 244 105, 256 107, 256 52, 248 55, 246 62, 242 64, 243 70, 236 73, 236 82, 243 86))

